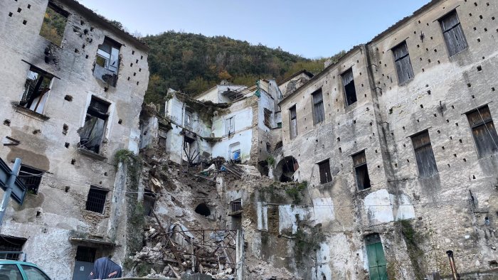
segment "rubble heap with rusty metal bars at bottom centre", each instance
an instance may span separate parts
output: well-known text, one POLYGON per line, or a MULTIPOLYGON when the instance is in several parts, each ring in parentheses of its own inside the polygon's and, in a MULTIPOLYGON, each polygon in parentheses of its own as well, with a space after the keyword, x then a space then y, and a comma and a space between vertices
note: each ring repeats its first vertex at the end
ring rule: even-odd
POLYGON ((150 246, 131 257, 135 264, 163 264, 160 273, 151 269, 148 277, 181 278, 184 274, 201 273, 213 279, 235 278, 236 231, 189 230, 179 222, 165 228, 153 215, 159 229, 146 230, 145 239, 150 246))

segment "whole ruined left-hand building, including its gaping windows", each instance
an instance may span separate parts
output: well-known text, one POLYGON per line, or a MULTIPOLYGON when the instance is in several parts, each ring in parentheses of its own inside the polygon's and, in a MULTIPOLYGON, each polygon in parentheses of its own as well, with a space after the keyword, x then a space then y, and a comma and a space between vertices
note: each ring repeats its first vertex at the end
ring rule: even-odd
POLYGON ((5 0, 0 14, 0 157, 22 159, 28 188, 0 250, 53 279, 86 277, 127 249, 113 158, 138 153, 147 46, 73 0, 5 0))

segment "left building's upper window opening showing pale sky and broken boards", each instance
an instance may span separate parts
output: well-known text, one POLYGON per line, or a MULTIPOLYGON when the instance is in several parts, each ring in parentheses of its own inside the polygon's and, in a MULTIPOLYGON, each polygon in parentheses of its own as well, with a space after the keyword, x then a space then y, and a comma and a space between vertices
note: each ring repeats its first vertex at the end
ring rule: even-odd
POLYGON ((120 68, 121 44, 105 37, 104 43, 99 45, 93 75, 112 87, 116 86, 117 71, 120 68))

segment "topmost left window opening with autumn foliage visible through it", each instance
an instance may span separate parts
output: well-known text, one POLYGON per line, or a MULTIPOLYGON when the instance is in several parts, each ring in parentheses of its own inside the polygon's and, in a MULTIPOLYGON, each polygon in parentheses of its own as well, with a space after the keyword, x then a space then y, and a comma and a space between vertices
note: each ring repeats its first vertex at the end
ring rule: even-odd
POLYGON ((68 22, 68 15, 67 11, 58 8, 49 1, 41 24, 40 35, 60 46, 64 36, 65 24, 68 22))

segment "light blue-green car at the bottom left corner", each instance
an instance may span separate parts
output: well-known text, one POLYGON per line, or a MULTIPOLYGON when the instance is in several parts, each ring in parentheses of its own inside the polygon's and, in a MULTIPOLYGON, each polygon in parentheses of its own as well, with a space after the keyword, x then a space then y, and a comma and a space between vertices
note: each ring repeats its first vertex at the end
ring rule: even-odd
POLYGON ((0 260, 0 280, 51 280, 31 262, 0 260))

